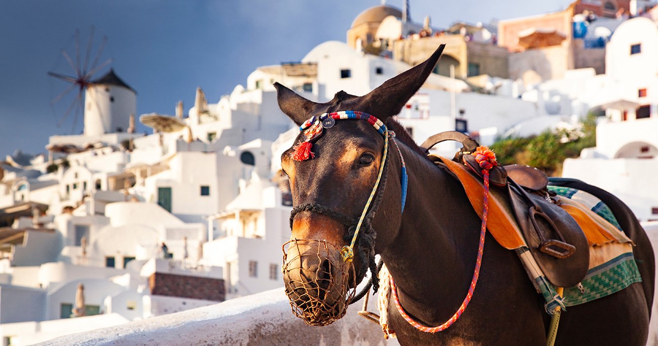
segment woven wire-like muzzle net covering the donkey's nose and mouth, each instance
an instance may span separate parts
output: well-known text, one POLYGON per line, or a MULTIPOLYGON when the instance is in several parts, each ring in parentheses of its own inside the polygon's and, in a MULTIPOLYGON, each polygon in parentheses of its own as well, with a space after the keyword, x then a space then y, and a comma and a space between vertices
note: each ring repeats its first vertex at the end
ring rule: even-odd
POLYGON ((283 251, 282 272, 293 314, 309 326, 326 326, 345 316, 356 282, 354 265, 342 261, 340 248, 326 241, 293 239, 283 251))

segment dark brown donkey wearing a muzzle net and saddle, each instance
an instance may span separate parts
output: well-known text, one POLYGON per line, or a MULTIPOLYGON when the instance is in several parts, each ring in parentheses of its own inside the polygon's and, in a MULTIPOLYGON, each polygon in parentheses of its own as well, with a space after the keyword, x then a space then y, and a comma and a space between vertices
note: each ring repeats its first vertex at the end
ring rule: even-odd
MULTIPOLYGON (((481 219, 460 183, 432 163, 393 120, 432 72, 441 51, 442 47, 424 63, 365 96, 341 91, 333 100, 316 103, 274 84, 281 110, 297 125, 324 113, 361 111, 374 115, 396 134, 389 144, 384 183, 374 203, 366 208, 370 219, 363 221, 365 231, 358 235, 352 262, 343 260, 341 248, 349 245, 355 220, 374 192, 373 184, 386 159, 382 155, 384 136, 372 121, 335 121, 322 136, 313 138, 313 148, 305 153, 312 159, 293 158, 307 140, 303 134, 295 140, 297 146, 281 156, 295 206, 291 214, 293 241, 284 256, 284 268, 299 268, 284 275, 284 281, 293 310, 307 322, 322 325, 342 316, 344 312, 339 310, 349 303, 347 290, 365 277, 374 254, 380 254, 386 263, 401 306, 425 326, 451 318, 467 294, 481 219), (404 210, 403 162, 408 171, 404 210)), ((645 345, 653 303, 653 249, 637 220, 628 222, 633 231, 626 235, 636 245, 634 256, 642 283, 570 306, 562 314, 557 345, 645 345)), ((498 245, 489 233, 484 243, 478 285, 467 310, 450 328, 420 332, 390 302, 389 324, 402 345, 546 343, 550 316, 517 254, 498 245)))

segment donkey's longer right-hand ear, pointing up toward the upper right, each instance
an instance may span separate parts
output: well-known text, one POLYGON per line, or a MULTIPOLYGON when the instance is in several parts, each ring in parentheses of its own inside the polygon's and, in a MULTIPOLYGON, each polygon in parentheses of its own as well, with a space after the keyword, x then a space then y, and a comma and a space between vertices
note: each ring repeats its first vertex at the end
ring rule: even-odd
POLYGON ((434 66, 443 52, 443 47, 445 44, 440 45, 423 63, 387 80, 372 92, 361 97, 359 110, 370 113, 382 121, 400 113, 405 103, 416 94, 434 70, 434 66))

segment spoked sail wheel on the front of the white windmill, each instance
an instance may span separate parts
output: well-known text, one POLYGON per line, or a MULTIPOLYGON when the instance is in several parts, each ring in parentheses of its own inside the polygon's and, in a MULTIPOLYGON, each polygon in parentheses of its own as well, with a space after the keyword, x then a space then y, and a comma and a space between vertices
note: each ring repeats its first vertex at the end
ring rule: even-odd
POLYGON ((74 56, 72 57, 72 54, 69 54, 66 49, 61 49, 61 53, 64 59, 66 59, 70 69, 72 69, 73 73, 71 74, 69 72, 68 74, 63 74, 52 71, 48 72, 49 76, 63 80, 64 82, 70 84, 66 89, 64 89, 63 92, 53 98, 50 104, 51 106, 59 103, 65 103, 67 105, 66 111, 64 111, 64 114, 57 123, 57 127, 61 127, 68 116, 73 114, 73 125, 71 132, 75 132, 76 125, 78 123, 78 116, 80 116, 80 113, 84 111, 84 93, 89 84, 91 84, 92 76, 96 72, 101 71, 101 69, 112 63, 112 59, 107 59, 100 63, 103 49, 105 49, 105 45, 107 44, 107 36, 103 36, 103 40, 101 41, 96 53, 92 56, 91 51, 93 48, 93 40, 94 27, 91 26, 91 30, 89 30, 89 42, 87 43, 87 47, 83 52, 83 49, 80 45, 80 30, 76 30, 76 34, 74 36, 74 56), (81 56, 81 53, 84 55, 81 56), (72 92, 75 93, 72 94, 72 92))

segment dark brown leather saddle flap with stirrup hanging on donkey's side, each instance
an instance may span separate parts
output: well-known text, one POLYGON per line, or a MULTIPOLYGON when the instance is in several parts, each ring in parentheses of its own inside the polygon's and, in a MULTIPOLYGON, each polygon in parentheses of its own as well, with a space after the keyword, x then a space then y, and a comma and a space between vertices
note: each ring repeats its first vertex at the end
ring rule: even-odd
POLYGON ((517 187, 509 187, 513 210, 537 264, 553 285, 578 285, 590 265, 590 248, 582 229, 573 217, 559 206, 536 194, 528 194, 532 202, 545 214, 543 217, 536 217, 534 208, 520 196, 521 193, 523 192, 519 192, 517 187), (559 229, 559 233, 553 231, 553 227, 559 229))

